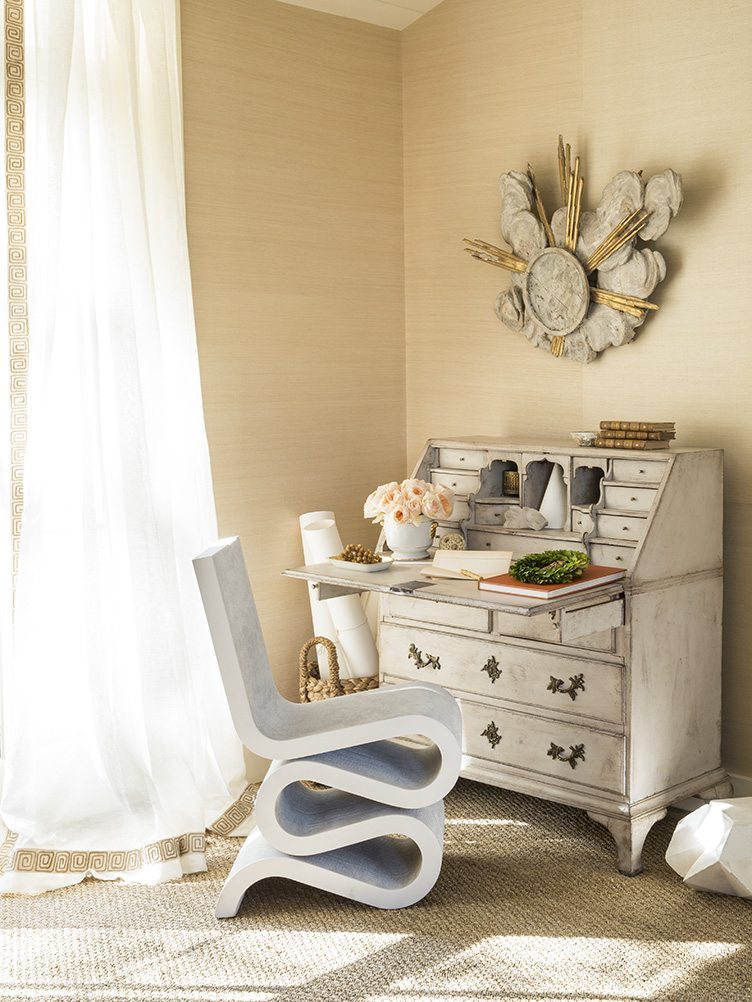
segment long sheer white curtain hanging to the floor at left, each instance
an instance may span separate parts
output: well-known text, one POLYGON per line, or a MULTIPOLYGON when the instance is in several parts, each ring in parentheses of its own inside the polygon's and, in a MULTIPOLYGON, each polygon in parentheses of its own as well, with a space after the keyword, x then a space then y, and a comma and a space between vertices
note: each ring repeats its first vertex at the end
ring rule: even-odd
POLYGON ((217 528, 176 6, 26 4, 29 439, 0 891, 173 878, 205 868, 218 818, 247 824, 191 565, 217 528))

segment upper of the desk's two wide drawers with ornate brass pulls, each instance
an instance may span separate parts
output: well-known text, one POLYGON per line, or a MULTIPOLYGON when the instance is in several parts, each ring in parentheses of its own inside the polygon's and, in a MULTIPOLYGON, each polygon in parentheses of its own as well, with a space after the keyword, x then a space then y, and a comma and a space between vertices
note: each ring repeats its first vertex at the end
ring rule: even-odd
POLYGON ((622 726, 622 666, 555 651, 382 623, 381 671, 459 692, 622 726))

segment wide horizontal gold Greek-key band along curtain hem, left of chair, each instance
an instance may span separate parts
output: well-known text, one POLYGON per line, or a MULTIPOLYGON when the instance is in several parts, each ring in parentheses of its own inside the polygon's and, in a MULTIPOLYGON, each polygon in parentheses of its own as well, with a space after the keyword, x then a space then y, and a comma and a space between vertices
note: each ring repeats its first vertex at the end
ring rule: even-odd
POLYGON ((0 846, 0 872, 14 873, 127 873, 142 870, 155 863, 177 860, 189 853, 204 853, 207 837, 203 832, 190 832, 171 839, 151 842, 142 849, 58 850, 14 849, 17 839, 9 833, 0 846))

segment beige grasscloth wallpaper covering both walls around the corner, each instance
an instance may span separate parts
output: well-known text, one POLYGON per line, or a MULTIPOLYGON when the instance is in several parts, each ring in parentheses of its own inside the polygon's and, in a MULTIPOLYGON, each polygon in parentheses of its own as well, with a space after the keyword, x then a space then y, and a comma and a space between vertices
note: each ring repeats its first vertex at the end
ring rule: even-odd
POLYGON ((182 20, 218 506, 288 691, 310 628, 278 576, 299 511, 373 538, 365 493, 431 435, 676 420, 680 444, 726 450, 725 760, 752 777, 748 0, 444 0, 401 33, 274 0, 182 0, 182 20), (501 171, 529 160, 553 203, 559 132, 591 207, 628 167, 685 181, 661 312, 589 367, 506 331, 504 274, 462 254, 498 240, 501 171))

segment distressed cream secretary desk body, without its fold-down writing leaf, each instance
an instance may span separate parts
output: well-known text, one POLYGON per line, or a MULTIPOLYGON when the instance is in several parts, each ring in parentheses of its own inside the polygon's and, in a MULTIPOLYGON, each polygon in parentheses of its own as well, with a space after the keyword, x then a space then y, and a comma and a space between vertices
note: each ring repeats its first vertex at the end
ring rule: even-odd
MULTIPOLYGON (((639 873, 645 838, 670 804, 728 789, 720 750, 722 453, 672 448, 643 459, 489 438, 430 440, 414 476, 430 475, 439 457, 442 474, 477 484, 458 524, 470 545, 515 554, 584 549, 627 576, 622 594, 585 592, 567 608, 492 611, 489 621, 461 604, 384 596, 382 684, 420 675, 448 687, 465 719, 465 776, 586 810, 613 835, 620 870, 639 873), (516 464, 517 500, 528 504, 540 494, 532 464, 543 461, 563 471, 565 526, 532 533, 488 525, 499 464, 516 464), (407 658, 410 645, 435 658, 430 669, 407 658)), ((476 594, 468 591, 468 600, 476 594)))

